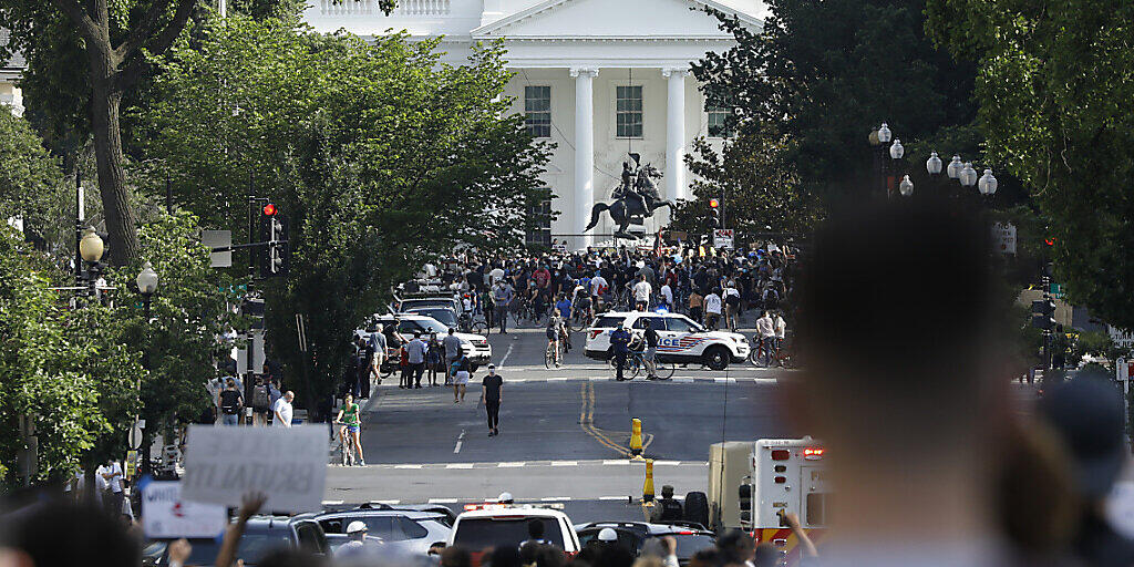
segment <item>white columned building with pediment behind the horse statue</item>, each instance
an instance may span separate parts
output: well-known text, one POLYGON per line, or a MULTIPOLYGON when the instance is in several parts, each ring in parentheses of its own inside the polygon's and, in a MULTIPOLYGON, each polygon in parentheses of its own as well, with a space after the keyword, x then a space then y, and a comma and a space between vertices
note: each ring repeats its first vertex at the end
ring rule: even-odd
MULTIPOLYGON (((506 94, 528 128, 557 144, 543 176, 558 218, 534 240, 573 247, 603 240, 609 217, 584 236, 594 203, 610 198, 628 152, 665 178, 663 197, 689 196, 683 156, 697 136, 721 135, 726 109, 706 109, 689 64, 733 39, 705 6, 761 25, 760 0, 399 0, 389 17, 378 0, 313 0, 305 12, 321 32, 374 36, 405 29, 443 36, 446 60, 462 64, 474 42, 502 39, 515 73, 506 94)), ((662 209, 646 220, 654 231, 662 209)))

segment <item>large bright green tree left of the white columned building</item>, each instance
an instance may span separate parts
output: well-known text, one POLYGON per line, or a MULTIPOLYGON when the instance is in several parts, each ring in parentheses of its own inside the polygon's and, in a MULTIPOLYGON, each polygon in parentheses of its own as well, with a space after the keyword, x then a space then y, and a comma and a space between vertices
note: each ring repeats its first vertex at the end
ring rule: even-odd
POLYGON ((331 391, 352 331, 391 285, 458 244, 518 245, 525 205, 547 198, 548 147, 506 116, 499 45, 454 67, 437 41, 367 43, 290 19, 236 17, 200 37, 161 61, 160 102, 138 115, 146 152, 178 202, 236 242, 256 238, 249 191, 289 217, 291 274, 257 286, 274 355, 310 378, 295 382, 301 404, 331 391))

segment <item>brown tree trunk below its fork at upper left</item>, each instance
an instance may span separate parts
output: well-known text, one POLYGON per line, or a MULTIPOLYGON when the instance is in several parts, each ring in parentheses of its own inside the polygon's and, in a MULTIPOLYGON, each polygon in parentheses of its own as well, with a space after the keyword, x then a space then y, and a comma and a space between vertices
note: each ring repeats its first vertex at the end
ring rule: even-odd
POLYGON ((122 170, 122 138, 118 109, 122 93, 115 86, 117 69, 110 56, 95 46, 87 48, 91 59, 91 129, 99 166, 99 193, 110 234, 110 260, 126 265, 138 256, 137 214, 130 206, 130 191, 122 170))

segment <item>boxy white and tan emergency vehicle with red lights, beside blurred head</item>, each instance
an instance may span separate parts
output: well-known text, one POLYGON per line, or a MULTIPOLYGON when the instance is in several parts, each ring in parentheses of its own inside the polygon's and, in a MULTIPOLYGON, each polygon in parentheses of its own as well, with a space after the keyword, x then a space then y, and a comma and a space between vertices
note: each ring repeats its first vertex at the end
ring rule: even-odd
POLYGON ((785 565, 802 549, 784 519, 798 516, 816 544, 828 522, 830 482, 822 443, 810 438, 716 443, 709 457, 709 524, 717 533, 738 528, 771 543, 785 565))

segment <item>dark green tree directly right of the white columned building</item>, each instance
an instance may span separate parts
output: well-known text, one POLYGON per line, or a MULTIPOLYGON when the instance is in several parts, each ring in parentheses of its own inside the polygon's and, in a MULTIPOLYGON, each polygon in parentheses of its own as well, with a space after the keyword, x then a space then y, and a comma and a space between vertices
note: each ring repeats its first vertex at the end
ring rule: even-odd
MULTIPOLYGON (((828 206, 880 195, 880 187, 863 194, 879 185, 878 150, 868 143, 872 128, 886 121, 909 143, 972 121, 973 71, 925 37, 921 2, 772 0, 768 7, 762 29, 708 9, 736 45, 706 53, 693 74, 709 105, 738 109, 742 119, 730 118, 737 144, 762 149, 786 142, 775 155, 786 163, 762 168, 790 171, 797 183, 780 186, 793 194, 816 195, 828 206)), ((727 175, 728 152, 704 155, 703 168, 727 175)), ((737 158, 755 160, 741 152, 737 158)), ((902 167, 916 175, 925 158, 911 153, 902 167)), ((753 192, 761 193, 764 183, 753 181, 753 192)))

